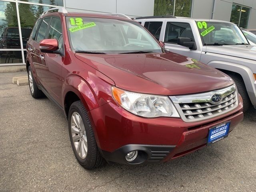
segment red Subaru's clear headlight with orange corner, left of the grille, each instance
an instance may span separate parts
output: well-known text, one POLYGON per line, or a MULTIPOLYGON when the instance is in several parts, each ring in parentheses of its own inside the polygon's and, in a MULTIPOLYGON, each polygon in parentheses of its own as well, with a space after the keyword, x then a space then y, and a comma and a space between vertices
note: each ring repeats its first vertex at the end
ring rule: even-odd
POLYGON ((180 117, 167 96, 140 94, 112 87, 112 96, 120 106, 142 117, 180 117))

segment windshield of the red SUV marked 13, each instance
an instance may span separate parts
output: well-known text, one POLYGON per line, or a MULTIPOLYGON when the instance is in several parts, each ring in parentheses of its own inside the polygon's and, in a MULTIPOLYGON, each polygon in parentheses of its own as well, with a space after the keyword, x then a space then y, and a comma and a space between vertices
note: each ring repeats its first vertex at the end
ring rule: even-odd
POLYGON ((107 18, 67 17, 70 46, 76 52, 162 53, 158 42, 137 22, 107 18))

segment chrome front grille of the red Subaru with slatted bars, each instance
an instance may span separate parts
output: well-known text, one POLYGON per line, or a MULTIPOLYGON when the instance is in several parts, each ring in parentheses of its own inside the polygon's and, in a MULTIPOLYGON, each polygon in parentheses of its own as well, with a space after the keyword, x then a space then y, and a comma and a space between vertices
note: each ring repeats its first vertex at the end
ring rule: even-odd
POLYGON ((195 122, 227 113, 238 106, 238 96, 234 85, 211 92, 170 96, 181 118, 185 122, 195 122), (213 102, 214 95, 220 95, 219 102, 213 102))

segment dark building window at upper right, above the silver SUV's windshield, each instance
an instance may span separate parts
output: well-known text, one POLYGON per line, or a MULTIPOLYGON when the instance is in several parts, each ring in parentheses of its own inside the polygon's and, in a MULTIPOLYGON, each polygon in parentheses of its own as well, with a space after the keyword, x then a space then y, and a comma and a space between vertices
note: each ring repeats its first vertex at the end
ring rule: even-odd
POLYGON ((246 29, 248 26, 249 16, 250 8, 234 3, 232 4, 230 22, 246 29))

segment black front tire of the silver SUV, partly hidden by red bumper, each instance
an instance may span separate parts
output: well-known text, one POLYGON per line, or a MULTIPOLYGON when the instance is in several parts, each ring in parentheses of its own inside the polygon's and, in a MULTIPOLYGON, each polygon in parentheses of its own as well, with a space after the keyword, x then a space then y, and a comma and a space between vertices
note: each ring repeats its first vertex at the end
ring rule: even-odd
POLYGON ((248 111, 249 108, 252 107, 251 100, 248 96, 244 80, 241 76, 238 76, 236 74, 228 74, 236 83, 236 87, 238 89, 239 94, 241 95, 244 103, 244 112, 248 111))

